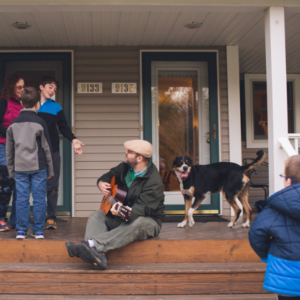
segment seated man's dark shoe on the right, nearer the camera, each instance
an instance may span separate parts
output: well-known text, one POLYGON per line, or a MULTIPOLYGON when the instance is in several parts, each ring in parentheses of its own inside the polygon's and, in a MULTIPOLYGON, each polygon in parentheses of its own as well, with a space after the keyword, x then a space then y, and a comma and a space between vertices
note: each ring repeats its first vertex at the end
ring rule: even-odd
POLYGON ((89 263, 93 269, 105 270, 107 259, 102 252, 97 252, 95 247, 90 247, 88 242, 81 242, 77 247, 78 256, 89 263))

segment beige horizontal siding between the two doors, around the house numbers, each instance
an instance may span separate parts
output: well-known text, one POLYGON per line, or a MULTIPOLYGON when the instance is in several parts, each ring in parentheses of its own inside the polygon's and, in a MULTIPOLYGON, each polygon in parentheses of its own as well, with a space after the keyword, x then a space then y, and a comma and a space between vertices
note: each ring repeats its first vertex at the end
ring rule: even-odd
POLYGON ((75 135, 86 147, 75 155, 75 217, 99 209, 97 179, 124 159, 123 143, 140 138, 139 93, 116 95, 111 82, 137 82, 137 48, 89 47, 75 50, 77 82, 102 82, 103 93, 75 92, 75 135))

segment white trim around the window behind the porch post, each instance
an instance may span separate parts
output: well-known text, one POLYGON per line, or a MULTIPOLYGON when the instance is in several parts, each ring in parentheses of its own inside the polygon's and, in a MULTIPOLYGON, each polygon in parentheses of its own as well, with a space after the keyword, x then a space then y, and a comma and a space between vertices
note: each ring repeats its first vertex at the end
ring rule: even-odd
MULTIPOLYGON (((254 139, 253 130, 253 81, 267 81, 266 74, 245 74, 245 108, 246 108, 246 147, 268 148, 268 139, 254 139)), ((300 132, 300 74, 287 74, 287 81, 293 82, 294 126, 300 132)))

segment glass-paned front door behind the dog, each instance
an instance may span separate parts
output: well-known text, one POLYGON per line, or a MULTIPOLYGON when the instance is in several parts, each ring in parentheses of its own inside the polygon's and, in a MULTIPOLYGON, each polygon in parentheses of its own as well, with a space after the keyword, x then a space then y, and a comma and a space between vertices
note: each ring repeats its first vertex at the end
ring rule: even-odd
MULTIPOLYGON (((218 161, 214 104, 208 61, 151 61, 153 162, 162 177, 166 214, 184 214, 183 196, 172 170, 174 158, 188 155, 193 164, 218 161)), ((207 195, 195 213, 219 213, 218 198, 207 195)))

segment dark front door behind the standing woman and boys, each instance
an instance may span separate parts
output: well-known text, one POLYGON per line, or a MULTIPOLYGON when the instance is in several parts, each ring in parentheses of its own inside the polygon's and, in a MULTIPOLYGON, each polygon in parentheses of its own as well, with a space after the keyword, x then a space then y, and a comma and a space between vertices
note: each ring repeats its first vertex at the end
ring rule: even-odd
MULTIPOLYGON (((5 54, 3 55, 5 56, 5 54)), ((67 95, 68 90, 70 90, 71 82, 68 80, 68 77, 64 76, 64 72, 68 72, 68 70, 64 70, 64 59, 57 57, 56 60, 49 60, 48 55, 39 53, 37 55, 40 56, 40 59, 36 59, 38 57, 32 59, 34 55, 31 55, 28 59, 24 59, 25 57, 23 56, 23 59, 17 60, 17 58, 22 57, 22 54, 21 56, 20 54, 17 55, 18 57, 15 57, 15 59, 11 56, 9 60, 3 61, 4 75, 7 76, 12 73, 18 73, 26 80, 26 86, 33 86, 35 88, 39 88, 43 76, 54 77, 60 83, 60 87, 53 100, 61 105, 64 112, 67 112, 67 116, 68 111, 70 110, 70 99, 67 99, 65 95, 67 95)), ((55 56, 53 58, 55 58, 55 56)), ((71 73, 71 70, 69 70, 69 72, 71 73)), ((70 169, 68 167, 70 166, 71 157, 70 154, 67 153, 67 151, 70 151, 70 142, 67 141, 66 144, 64 140, 65 139, 63 139, 63 136, 60 134, 61 173, 57 206, 58 215, 70 215, 71 213, 71 193, 69 188, 70 185, 68 184, 71 177, 70 170, 68 170, 70 169)), ((32 198, 30 200, 32 203, 32 198)))

